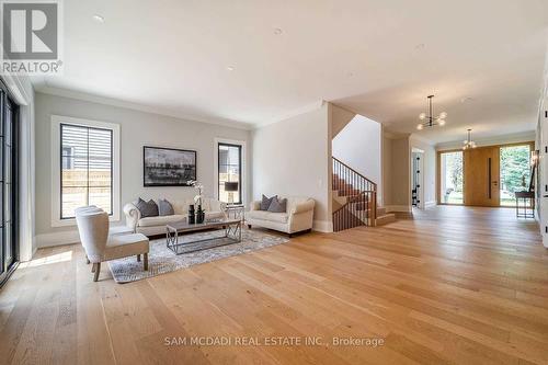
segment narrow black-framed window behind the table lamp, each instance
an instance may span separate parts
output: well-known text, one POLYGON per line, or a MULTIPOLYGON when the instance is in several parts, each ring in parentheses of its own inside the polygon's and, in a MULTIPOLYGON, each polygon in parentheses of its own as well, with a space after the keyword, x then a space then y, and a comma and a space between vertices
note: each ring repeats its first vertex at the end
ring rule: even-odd
POLYGON ((242 146, 217 144, 219 201, 242 204, 242 146))

